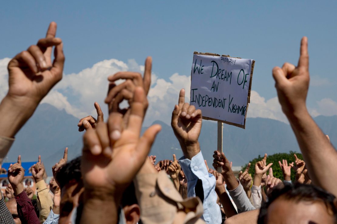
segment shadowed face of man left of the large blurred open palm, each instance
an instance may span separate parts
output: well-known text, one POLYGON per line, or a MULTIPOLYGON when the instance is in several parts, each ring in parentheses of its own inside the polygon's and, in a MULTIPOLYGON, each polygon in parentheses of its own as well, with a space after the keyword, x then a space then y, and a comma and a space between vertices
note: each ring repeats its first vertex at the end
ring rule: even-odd
POLYGON ((70 181, 61 189, 59 223, 71 223, 71 213, 82 203, 83 183, 70 181))

